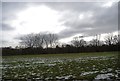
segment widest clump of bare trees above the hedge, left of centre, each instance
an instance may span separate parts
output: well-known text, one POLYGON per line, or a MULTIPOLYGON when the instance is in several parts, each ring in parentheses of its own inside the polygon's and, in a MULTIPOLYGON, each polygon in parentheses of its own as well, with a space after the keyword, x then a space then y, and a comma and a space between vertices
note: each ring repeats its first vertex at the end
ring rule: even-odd
POLYGON ((25 47, 43 47, 46 48, 54 47, 57 44, 57 35, 56 34, 28 34, 20 37, 21 45, 25 47))

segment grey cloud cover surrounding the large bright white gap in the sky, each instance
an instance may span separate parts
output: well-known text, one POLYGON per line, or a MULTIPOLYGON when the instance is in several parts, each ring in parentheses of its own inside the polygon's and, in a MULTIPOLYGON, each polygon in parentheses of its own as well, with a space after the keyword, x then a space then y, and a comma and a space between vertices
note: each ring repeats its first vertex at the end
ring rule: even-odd
MULTIPOLYGON (((3 2, 2 20, 7 21, 15 19, 15 13, 27 8, 27 5, 40 6, 46 5, 51 9, 63 13, 59 22, 64 22, 65 30, 59 32, 60 38, 70 37, 76 34, 95 35, 110 33, 118 30, 118 7, 117 3, 112 7, 101 7, 103 2, 3 2), (65 13, 64 12, 68 12, 65 13), (93 12, 93 17, 80 20, 78 16, 81 13, 93 12), (87 29, 91 28, 91 29, 87 29)), ((22 23, 21 23, 22 24, 22 23)), ((8 24, 3 24, 3 30, 13 30, 8 24)))

